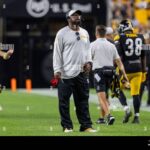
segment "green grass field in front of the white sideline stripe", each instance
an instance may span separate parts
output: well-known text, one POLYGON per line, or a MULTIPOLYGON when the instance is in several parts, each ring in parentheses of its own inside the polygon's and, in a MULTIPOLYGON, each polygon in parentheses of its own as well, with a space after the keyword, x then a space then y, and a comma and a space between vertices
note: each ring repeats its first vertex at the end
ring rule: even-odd
MULTIPOLYGON (((92 93, 94 93, 92 91, 92 93)), ((3 91, 0 94, 0 136, 150 136, 150 112, 141 111, 140 124, 122 124, 123 111, 113 111, 114 125, 97 125, 96 104, 90 103, 93 127, 97 133, 79 132, 74 104, 71 101, 73 133, 63 133, 57 98, 30 93, 3 91)))

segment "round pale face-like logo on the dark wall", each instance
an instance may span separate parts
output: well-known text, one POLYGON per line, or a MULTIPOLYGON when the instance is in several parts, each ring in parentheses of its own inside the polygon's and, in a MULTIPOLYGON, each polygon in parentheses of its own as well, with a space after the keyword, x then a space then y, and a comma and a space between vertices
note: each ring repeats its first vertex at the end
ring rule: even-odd
POLYGON ((35 18, 45 16, 50 8, 48 0, 27 0, 26 9, 27 12, 35 18))

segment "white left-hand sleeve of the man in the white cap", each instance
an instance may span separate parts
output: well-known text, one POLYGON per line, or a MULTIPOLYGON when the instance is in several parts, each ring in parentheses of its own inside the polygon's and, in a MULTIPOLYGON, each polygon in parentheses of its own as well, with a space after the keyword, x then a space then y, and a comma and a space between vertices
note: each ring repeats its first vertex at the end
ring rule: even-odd
POLYGON ((54 51, 53 51, 54 73, 61 72, 61 69, 62 69, 62 50, 63 50, 62 36, 60 34, 57 34, 55 41, 54 41, 54 51))

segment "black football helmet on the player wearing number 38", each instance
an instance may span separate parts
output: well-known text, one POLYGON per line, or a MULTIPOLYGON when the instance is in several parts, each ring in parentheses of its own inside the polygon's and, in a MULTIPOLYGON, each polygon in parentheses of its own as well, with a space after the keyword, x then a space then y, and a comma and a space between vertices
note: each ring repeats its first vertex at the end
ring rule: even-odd
POLYGON ((133 31, 132 22, 128 19, 121 21, 118 27, 119 33, 124 33, 125 31, 133 31))

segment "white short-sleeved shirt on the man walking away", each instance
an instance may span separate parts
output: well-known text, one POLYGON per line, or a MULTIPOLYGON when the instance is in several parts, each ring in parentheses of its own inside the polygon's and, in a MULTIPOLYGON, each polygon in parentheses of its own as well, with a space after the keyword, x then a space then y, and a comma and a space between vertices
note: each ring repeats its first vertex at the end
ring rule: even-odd
POLYGON ((114 60, 120 58, 114 44, 106 38, 98 38, 90 44, 93 70, 104 66, 114 66, 114 60))

